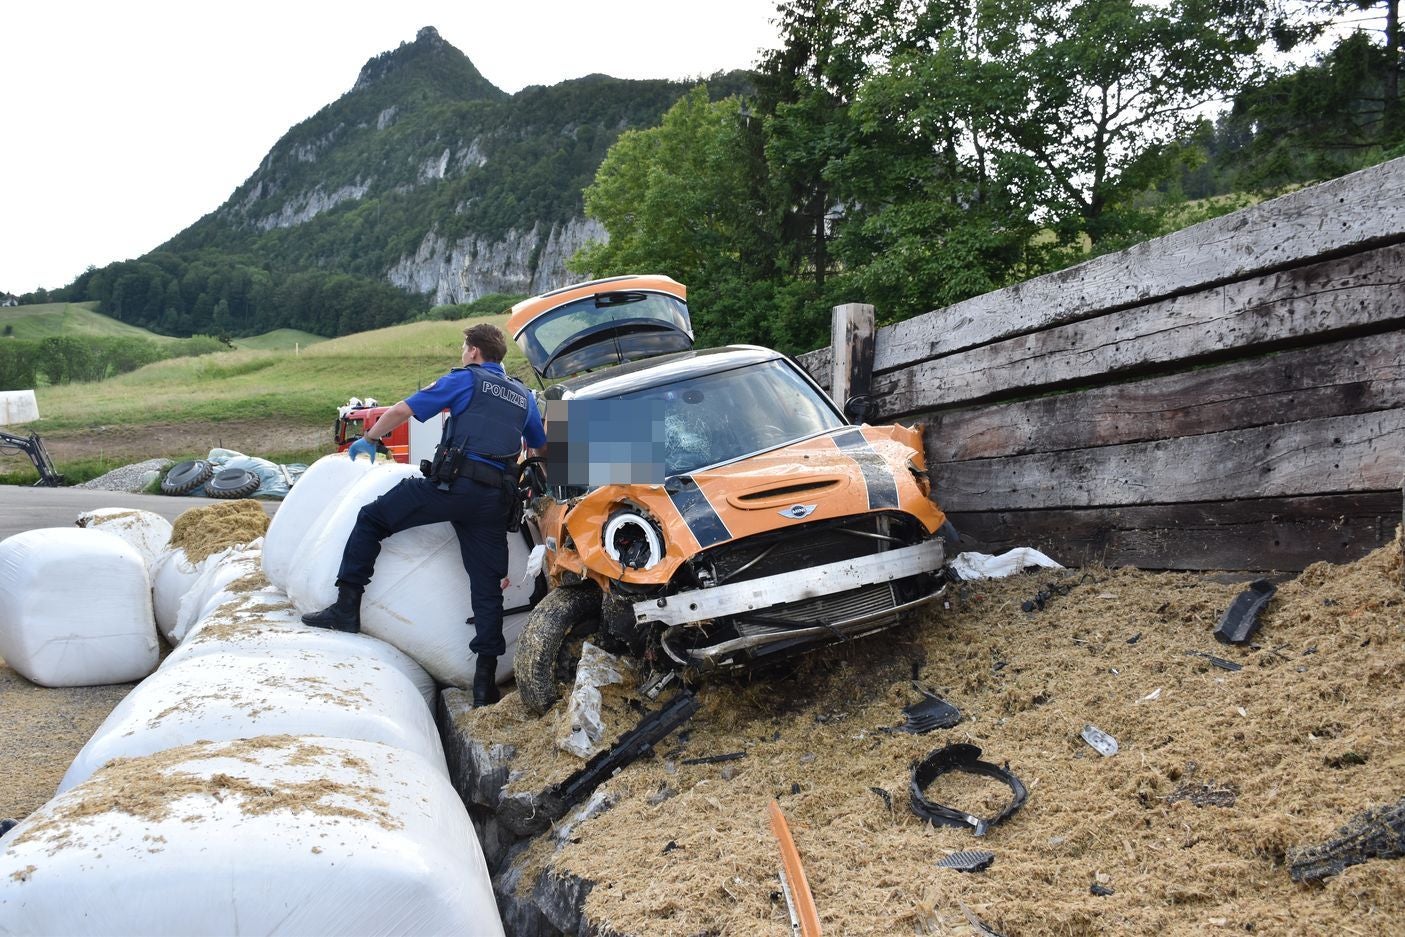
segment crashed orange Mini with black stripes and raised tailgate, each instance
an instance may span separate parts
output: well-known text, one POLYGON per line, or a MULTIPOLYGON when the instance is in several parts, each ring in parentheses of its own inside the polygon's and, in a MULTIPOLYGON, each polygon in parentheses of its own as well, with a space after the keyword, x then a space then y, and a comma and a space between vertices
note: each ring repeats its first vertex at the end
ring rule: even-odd
POLYGON ((583 638, 648 662, 652 695, 889 628, 943 594, 950 525, 919 430, 853 426, 778 351, 693 348, 681 284, 568 287, 514 306, 507 330, 559 379, 528 514, 551 591, 514 659, 530 709, 559 698, 583 638))

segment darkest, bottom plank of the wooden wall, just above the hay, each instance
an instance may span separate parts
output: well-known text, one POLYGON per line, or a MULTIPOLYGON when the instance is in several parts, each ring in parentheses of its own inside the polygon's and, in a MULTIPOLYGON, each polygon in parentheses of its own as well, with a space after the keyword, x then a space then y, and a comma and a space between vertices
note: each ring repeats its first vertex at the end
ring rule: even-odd
POLYGON ((1050 511, 954 511, 961 549, 1034 546, 1065 566, 1300 570, 1388 544, 1401 493, 1319 494, 1050 511))

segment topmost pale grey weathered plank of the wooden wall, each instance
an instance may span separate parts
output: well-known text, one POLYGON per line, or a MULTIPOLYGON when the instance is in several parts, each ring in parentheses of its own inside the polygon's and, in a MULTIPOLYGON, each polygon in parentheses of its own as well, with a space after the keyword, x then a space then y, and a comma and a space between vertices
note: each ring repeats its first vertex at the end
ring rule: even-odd
POLYGON ((1405 157, 880 329, 875 368, 1402 237, 1405 157))

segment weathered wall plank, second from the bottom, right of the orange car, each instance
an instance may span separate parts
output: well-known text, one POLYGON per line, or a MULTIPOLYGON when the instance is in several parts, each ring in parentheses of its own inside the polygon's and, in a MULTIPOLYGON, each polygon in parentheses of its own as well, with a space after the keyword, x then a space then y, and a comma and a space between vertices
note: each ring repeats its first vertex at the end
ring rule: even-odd
POLYGON ((1374 492, 1405 473, 1405 409, 932 468, 953 511, 1374 492))

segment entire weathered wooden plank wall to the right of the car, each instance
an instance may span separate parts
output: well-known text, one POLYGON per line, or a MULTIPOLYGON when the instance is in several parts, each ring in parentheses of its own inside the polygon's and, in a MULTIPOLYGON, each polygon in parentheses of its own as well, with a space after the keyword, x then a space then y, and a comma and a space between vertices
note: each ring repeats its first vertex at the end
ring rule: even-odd
MULTIPOLYGON (((880 310, 881 313, 881 310, 880 310)), ((1405 159, 882 327, 964 549, 1297 570, 1394 537, 1405 159)), ((826 386, 833 353, 802 355, 826 386)))

